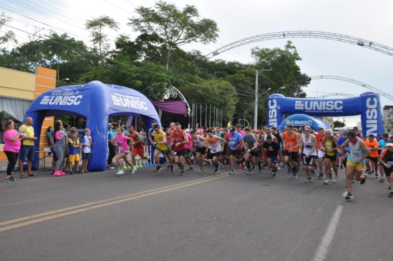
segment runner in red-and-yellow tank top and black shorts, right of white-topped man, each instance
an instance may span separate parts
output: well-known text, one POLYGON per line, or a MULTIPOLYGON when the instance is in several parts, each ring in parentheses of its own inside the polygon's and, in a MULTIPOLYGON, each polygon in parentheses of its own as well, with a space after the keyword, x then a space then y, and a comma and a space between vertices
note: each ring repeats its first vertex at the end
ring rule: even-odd
POLYGON ((326 180, 323 182, 325 185, 329 184, 332 179, 332 168, 335 171, 333 182, 337 182, 338 169, 337 169, 337 137, 332 135, 330 129, 325 129, 325 138, 322 141, 322 151, 325 152, 325 175, 326 180))

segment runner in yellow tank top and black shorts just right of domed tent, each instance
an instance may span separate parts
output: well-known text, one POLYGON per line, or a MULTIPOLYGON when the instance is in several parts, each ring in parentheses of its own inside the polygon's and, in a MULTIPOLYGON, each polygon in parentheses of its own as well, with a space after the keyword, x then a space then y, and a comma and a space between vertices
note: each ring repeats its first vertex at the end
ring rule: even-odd
POLYGON ((168 157, 169 168, 171 172, 173 172, 173 159, 170 155, 170 147, 167 143, 167 136, 164 131, 160 129, 160 125, 156 124, 153 127, 153 145, 154 145, 154 159, 156 161, 157 168, 154 170, 155 172, 160 172, 162 170, 162 166, 160 165, 160 154, 164 153, 168 157))

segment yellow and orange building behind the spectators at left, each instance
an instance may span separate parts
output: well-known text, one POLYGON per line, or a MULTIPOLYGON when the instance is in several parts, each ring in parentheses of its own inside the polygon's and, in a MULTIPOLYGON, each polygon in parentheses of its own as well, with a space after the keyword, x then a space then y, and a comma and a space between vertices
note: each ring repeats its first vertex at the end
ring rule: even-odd
MULTIPOLYGON (((33 100, 47 90, 56 88, 56 70, 37 66, 35 74, 0 67, 0 124, 12 118, 20 126, 33 100)), ((34 119, 33 119, 34 120, 34 119)), ((40 150, 48 147, 46 131, 54 125, 54 117, 46 117, 40 135, 40 150)), ((3 152, 2 128, 0 128, 0 159, 6 159, 3 152)), ((41 155, 42 156, 42 155, 41 155)))

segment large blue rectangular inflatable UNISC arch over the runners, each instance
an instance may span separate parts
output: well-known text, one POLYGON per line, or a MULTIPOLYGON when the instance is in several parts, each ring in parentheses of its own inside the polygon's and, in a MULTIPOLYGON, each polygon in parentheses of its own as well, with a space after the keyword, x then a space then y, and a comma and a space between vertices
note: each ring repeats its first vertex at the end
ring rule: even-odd
POLYGON ((272 94, 268 101, 268 125, 277 127, 284 114, 308 116, 355 116, 361 115, 364 136, 384 133, 379 94, 367 91, 359 97, 342 99, 288 98, 272 94))

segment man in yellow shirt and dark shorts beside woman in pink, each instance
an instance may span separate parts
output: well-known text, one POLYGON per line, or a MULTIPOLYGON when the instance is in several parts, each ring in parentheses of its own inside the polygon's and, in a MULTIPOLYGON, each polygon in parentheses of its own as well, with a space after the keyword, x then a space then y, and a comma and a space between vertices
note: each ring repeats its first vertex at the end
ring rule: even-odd
POLYGON ((26 123, 19 128, 22 137, 21 153, 19 156, 19 171, 21 177, 26 177, 23 173, 23 163, 25 161, 28 162, 28 176, 37 176, 37 174, 31 173, 31 162, 34 159, 34 141, 37 140, 37 137, 34 137, 34 128, 32 124, 33 119, 27 117, 26 123))

